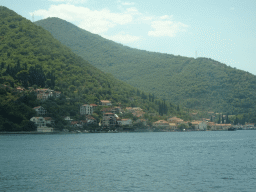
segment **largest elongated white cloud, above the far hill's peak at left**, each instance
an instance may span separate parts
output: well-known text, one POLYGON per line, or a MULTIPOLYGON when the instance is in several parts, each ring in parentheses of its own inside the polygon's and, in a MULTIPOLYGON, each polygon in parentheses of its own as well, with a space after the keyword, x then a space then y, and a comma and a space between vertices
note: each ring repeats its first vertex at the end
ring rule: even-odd
POLYGON ((102 34, 116 25, 124 25, 133 20, 131 14, 112 13, 108 9, 90 10, 70 4, 51 5, 48 10, 37 10, 32 14, 43 18, 58 17, 69 22, 76 22, 82 29, 96 34, 102 34))

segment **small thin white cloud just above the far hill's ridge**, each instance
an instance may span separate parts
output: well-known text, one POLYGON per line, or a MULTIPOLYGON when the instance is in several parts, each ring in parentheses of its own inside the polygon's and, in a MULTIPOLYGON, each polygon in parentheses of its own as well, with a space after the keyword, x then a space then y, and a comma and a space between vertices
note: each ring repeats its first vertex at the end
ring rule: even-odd
POLYGON ((129 34, 125 34, 124 32, 113 35, 113 36, 108 36, 108 35, 103 35, 104 38, 120 42, 120 43, 132 43, 136 41, 140 41, 142 38, 138 36, 133 36, 129 34))

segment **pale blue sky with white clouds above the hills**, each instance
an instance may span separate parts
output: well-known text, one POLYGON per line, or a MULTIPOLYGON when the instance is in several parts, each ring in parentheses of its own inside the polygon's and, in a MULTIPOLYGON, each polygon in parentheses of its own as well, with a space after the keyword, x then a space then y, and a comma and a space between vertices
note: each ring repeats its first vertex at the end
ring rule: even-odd
POLYGON ((206 57, 256 75, 255 0, 0 0, 38 21, 58 17, 152 52, 206 57))

